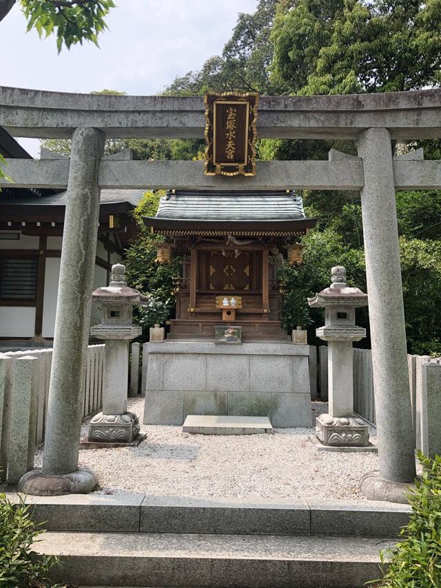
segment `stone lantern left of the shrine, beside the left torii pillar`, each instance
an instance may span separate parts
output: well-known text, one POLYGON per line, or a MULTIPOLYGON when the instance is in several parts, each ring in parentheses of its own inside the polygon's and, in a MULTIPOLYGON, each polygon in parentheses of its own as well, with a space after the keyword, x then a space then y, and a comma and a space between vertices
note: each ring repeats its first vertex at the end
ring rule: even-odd
POLYGON ((101 304, 102 320, 90 334, 105 341, 103 412, 89 425, 89 443, 133 443, 139 434, 139 419, 127 412, 129 341, 141 335, 133 324, 132 307, 145 296, 125 283, 125 266, 112 265, 112 281, 92 294, 101 304))

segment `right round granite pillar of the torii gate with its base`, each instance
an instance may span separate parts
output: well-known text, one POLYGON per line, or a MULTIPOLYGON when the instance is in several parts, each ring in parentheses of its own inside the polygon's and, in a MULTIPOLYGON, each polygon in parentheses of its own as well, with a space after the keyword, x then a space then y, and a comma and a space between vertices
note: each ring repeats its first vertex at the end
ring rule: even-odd
POLYGON ((358 156, 379 458, 379 471, 362 478, 360 488, 372 500, 404 503, 416 467, 389 131, 362 131, 358 156))

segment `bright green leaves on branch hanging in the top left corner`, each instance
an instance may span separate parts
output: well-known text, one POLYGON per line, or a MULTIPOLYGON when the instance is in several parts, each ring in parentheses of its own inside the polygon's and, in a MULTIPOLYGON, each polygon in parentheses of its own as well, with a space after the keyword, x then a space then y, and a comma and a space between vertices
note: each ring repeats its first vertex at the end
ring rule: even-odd
MULTIPOLYGON (((105 17, 115 6, 113 0, 19 0, 19 4, 28 31, 36 29, 40 38, 54 34, 58 52, 63 44, 68 49, 83 41, 98 46, 99 34, 107 28, 105 17)), ((0 20, 13 5, 14 1, 0 1, 0 20)))

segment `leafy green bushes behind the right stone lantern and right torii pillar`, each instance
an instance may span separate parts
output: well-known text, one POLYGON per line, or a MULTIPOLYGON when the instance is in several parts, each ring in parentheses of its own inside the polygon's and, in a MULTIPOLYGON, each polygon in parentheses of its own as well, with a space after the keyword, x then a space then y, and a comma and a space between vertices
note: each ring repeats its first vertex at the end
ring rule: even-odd
MULTIPOLYGON (((295 314, 300 312, 301 321, 302 297, 307 303, 307 296, 314 296, 316 292, 329 286, 333 265, 344 265, 348 285, 357 286, 367 292, 365 252, 358 246, 356 233, 352 234, 351 239, 348 237, 353 218, 362 240, 358 212, 355 205, 343 206, 340 218, 328 221, 331 226, 323 229, 318 225, 302 237, 304 263, 300 266, 285 266, 278 271, 278 279, 285 290, 282 317, 287 314, 287 322, 291 308, 298 309, 295 314), (298 294, 294 294, 294 290, 298 294), (289 294, 290 292, 293 294, 289 294)), ((309 216, 313 214, 314 212, 309 212, 309 216)), ((438 318, 441 306, 441 239, 415 239, 402 235, 400 258, 407 350, 411 354, 438 356, 441 354, 441 321, 438 318)), ((311 309, 309 312, 307 316, 311 317, 314 328, 320 327, 323 324, 323 311, 311 309)), ((301 322, 298 324, 301 325, 301 322)), ((359 345, 369 348, 367 307, 357 311, 357 324, 367 330, 367 338, 360 341, 359 345)), ((290 328, 287 324, 284 327, 290 328)), ((314 329, 309 331, 309 341, 314 345, 314 329)))

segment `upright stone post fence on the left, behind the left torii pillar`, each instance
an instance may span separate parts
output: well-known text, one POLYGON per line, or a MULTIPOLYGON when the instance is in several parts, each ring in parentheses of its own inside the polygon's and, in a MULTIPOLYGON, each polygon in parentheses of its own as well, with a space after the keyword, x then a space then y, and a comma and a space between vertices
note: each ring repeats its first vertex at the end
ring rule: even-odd
MULTIPOLYGON (((83 418, 103 398, 105 345, 89 345, 84 374, 83 418)), ((0 354, 0 480, 17 483, 45 436, 52 349, 0 354)), ((72 369, 75 369, 72 366, 72 369)))

